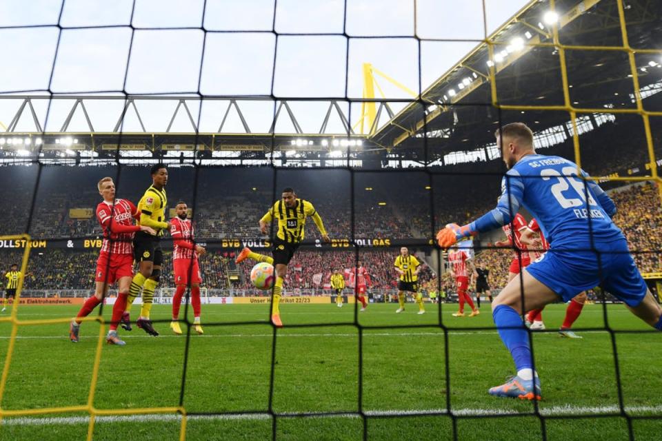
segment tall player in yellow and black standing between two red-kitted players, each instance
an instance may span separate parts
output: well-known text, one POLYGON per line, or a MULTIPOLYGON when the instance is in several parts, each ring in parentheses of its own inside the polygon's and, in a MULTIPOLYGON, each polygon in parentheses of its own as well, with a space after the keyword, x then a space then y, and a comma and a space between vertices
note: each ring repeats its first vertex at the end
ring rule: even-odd
POLYGON ((138 203, 141 226, 152 227, 156 234, 148 232, 137 232, 133 239, 134 258, 138 263, 138 272, 131 280, 129 298, 126 311, 122 315, 121 325, 127 331, 131 330, 129 311, 133 300, 141 294, 143 296, 143 307, 140 309, 140 317, 136 324, 151 336, 159 333, 152 326, 150 312, 154 289, 159 285, 161 278, 161 265, 163 264, 163 252, 161 251, 161 237, 170 228, 170 222, 166 220, 165 210, 168 206, 168 198, 165 196, 165 185, 168 183, 168 168, 165 164, 155 164, 150 170, 152 174, 152 185, 147 189, 138 203))

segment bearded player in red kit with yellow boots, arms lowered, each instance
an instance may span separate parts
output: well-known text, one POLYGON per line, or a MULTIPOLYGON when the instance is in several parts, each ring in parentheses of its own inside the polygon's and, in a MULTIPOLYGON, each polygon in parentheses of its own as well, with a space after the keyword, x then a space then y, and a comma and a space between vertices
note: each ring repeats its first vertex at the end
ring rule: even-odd
POLYGON ((188 219, 188 206, 179 201, 175 207, 176 218, 170 220, 170 236, 172 236, 174 252, 172 267, 174 268, 174 283, 177 291, 172 298, 172 322, 170 329, 174 334, 181 334, 179 327, 179 307, 186 287, 191 285, 191 306, 193 307, 193 326, 198 334, 203 334, 200 323, 200 283, 202 277, 198 265, 198 256, 205 254, 205 249, 195 244, 194 228, 188 219))

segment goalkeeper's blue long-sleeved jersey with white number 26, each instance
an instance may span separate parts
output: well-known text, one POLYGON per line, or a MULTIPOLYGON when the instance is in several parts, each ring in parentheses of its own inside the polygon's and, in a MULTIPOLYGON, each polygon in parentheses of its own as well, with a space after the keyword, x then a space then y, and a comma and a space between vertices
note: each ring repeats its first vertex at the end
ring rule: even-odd
POLYGON ((591 236, 600 243, 624 239, 611 219, 616 205, 578 169, 560 156, 524 156, 503 176, 496 208, 471 229, 485 232, 509 223, 523 206, 538 220, 552 248, 590 247, 591 236))

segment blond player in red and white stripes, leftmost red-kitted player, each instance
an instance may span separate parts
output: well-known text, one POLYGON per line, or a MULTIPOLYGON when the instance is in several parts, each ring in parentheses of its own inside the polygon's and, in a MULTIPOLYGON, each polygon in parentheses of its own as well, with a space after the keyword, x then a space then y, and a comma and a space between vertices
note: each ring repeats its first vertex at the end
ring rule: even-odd
POLYGON ((103 301, 108 294, 108 287, 118 283, 118 295, 112 307, 110 331, 106 342, 110 345, 125 345, 117 336, 117 325, 126 308, 131 278, 133 277, 133 234, 144 231, 150 234, 154 230, 150 227, 133 225, 134 218, 139 216, 138 209, 126 199, 115 199, 115 184, 112 178, 103 178, 97 184, 103 202, 97 205, 97 220, 103 229, 103 243, 97 259, 97 274, 94 278, 96 287, 94 296, 88 298, 78 315, 72 320, 69 329, 69 338, 78 342, 78 334, 83 317, 103 301))

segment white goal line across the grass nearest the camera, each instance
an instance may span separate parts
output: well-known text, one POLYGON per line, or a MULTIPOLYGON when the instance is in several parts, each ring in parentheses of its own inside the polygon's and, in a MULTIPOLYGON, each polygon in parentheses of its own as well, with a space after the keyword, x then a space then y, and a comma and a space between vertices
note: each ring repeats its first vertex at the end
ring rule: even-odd
MULTIPOLYGON (((627 413, 659 413, 662 411, 662 406, 633 406, 625 407, 627 413)), ((618 406, 601 406, 601 407, 578 407, 564 406, 542 407, 540 413, 542 416, 578 416, 578 415, 591 415, 591 414, 612 414, 619 416, 621 409, 618 406)), ((413 416, 413 415, 448 415, 447 409, 410 409, 410 410, 374 410, 365 411, 366 416, 413 416)), ((452 409, 453 415, 456 416, 502 416, 502 415, 520 415, 521 412, 516 412, 507 409, 452 409)), ((528 415, 529 413, 525 413, 528 415)), ((280 413, 279 416, 303 416, 302 413, 280 413)), ((358 413, 338 413, 334 415, 312 415, 308 418, 359 418, 358 413)), ((131 415, 131 416, 97 416, 97 423, 113 423, 113 422, 172 422, 181 420, 180 415, 167 415, 161 413, 152 413, 147 415, 131 415)), ((269 413, 237 413, 229 415, 193 415, 189 416, 187 420, 268 420, 271 416, 269 413)), ((73 416, 73 417, 57 417, 57 418, 4 418, 1 424, 6 426, 46 426, 56 424, 88 424, 90 417, 88 416, 73 416)))

